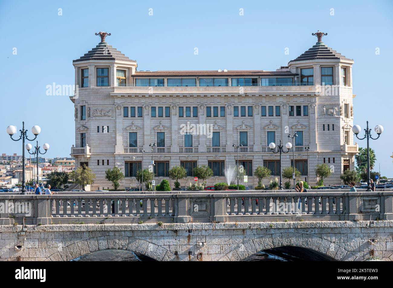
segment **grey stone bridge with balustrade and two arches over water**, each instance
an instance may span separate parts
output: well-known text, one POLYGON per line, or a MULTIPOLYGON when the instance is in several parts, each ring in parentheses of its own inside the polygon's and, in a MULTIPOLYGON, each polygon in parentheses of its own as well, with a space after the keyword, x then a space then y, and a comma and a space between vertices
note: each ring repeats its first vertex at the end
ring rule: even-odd
POLYGON ((298 247, 331 260, 393 260, 391 190, 149 193, 4 193, 0 259, 122 249, 158 261, 239 261, 298 247))

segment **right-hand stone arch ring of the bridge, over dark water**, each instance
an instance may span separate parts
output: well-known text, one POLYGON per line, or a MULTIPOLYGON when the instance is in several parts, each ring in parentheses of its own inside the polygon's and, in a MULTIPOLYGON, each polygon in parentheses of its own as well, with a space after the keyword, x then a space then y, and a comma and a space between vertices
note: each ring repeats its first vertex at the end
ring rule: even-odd
POLYGON ((276 233, 240 243, 223 255, 219 261, 241 261, 257 252, 283 246, 308 248, 326 254, 338 261, 345 261, 355 257, 351 252, 334 243, 331 239, 303 233, 276 233))

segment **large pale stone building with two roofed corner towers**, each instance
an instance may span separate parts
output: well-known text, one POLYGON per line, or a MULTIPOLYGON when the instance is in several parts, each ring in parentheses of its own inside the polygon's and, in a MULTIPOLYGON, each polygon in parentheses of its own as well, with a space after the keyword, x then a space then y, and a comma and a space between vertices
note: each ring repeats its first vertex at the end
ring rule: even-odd
POLYGON ((214 172, 208 184, 226 182, 225 169, 237 161, 233 144, 242 144, 239 164, 253 188, 257 166, 278 177, 279 155, 268 145, 282 140, 285 146, 294 132, 298 137, 282 155, 283 168, 294 157, 302 179, 312 185, 317 164, 331 166, 325 184, 339 184, 343 170, 354 168, 354 61, 325 45, 324 33, 313 33, 317 43, 277 71, 137 71, 136 60, 105 42, 107 33, 99 35, 95 48, 73 60, 79 89, 78 97, 70 97, 71 156, 76 166, 88 165, 96 174, 92 189, 111 186, 105 170, 114 166, 125 173, 122 188, 139 186, 134 176, 142 167, 142 149, 143 168, 154 157, 157 183, 181 165, 185 186, 193 182, 193 167, 202 164, 214 172))

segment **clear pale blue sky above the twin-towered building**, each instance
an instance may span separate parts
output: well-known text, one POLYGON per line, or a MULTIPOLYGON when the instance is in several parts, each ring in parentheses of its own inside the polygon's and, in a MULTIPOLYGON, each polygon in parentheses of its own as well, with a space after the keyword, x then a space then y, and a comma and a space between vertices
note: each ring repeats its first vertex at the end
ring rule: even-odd
POLYGON ((46 85, 74 84, 72 60, 99 43, 95 32, 112 33, 107 42, 137 60, 138 70, 274 71, 314 45, 311 33, 319 29, 328 33, 325 44, 354 59, 354 123, 384 126, 370 146, 376 170, 380 164, 382 175, 393 177, 392 15, 390 0, 0 0, 0 153, 21 154, 22 143, 9 139, 6 127, 20 129, 25 121, 28 129, 42 128, 37 139, 51 145, 48 157, 69 157, 73 103, 66 96, 46 96, 46 85))

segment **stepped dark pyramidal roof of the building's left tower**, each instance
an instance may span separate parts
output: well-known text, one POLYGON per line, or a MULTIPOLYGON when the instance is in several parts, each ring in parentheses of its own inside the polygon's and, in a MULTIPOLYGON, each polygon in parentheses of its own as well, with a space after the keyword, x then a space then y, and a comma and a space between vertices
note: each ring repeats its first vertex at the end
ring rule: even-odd
POLYGON ((95 48, 88 51, 88 53, 85 53, 81 58, 73 60, 72 62, 87 60, 120 60, 135 62, 135 60, 131 60, 107 42, 100 42, 95 48))

